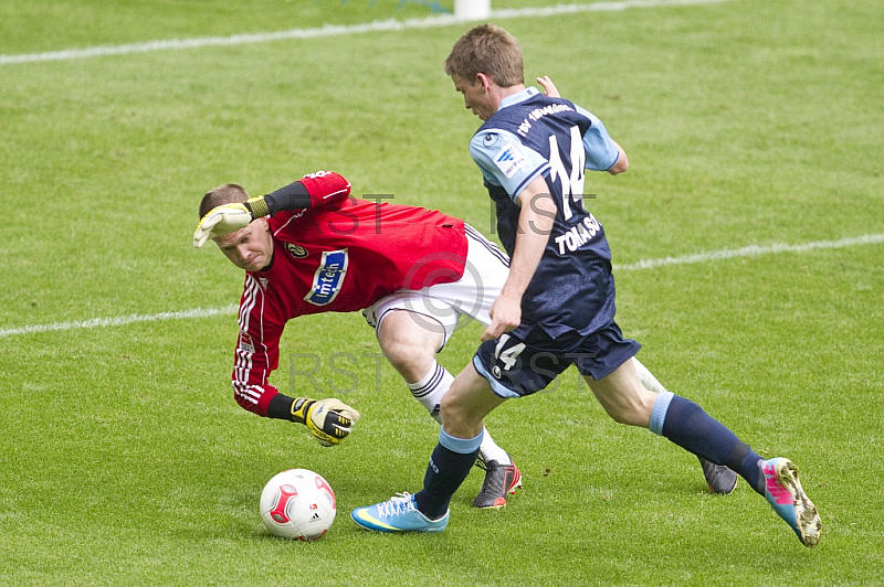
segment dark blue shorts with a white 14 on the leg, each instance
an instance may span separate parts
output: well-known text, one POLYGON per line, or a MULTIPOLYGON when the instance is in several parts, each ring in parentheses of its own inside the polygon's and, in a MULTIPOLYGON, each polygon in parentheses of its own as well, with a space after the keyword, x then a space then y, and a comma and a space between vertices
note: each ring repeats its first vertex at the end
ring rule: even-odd
POLYGON ((544 389, 571 364, 581 375, 598 381, 613 373, 642 345, 624 339, 611 321, 582 337, 577 332, 550 339, 546 334, 525 341, 513 333, 483 342, 473 356, 473 366, 488 380, 501 397, 524 397, 544 389))

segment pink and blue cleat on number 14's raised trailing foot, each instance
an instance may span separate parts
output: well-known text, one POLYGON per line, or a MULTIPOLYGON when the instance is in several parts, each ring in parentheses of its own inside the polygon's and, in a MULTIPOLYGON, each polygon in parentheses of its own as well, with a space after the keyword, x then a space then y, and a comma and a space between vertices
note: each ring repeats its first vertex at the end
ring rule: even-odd
POLYGON ((785 458, 761 461, 765 498, 774 511, 798 535, 801 544, 812 548, 820 542, 822 522, 817 506, 808 499, 798 480, 798 467, 785 458))

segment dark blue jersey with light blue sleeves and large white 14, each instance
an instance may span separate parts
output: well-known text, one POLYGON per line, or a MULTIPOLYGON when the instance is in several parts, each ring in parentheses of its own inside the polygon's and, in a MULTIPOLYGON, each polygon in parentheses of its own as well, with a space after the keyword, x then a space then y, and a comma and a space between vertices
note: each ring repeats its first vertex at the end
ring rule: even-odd
POLYGON ((607 170, 619 157, 601 121, 529 87, 501 103, 471 140, 470 153, 482 169, 501 242, 511 256, 522 210, 515 198, 535 178, 544 177, 558 209, 523 297, 519 330, 528 334, 540 328, 552 338, 573 331, 586 335, 611 322, 611 250, 601 224, 583 207, 585 169, 607 170))

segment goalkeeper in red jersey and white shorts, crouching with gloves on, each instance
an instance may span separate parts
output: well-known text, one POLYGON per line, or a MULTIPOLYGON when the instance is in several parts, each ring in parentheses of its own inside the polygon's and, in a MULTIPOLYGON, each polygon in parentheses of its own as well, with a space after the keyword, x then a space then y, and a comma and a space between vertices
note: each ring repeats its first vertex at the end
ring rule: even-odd
MULTIPOLYGON (((383 354, 438 421, 453 376, 435 355, 461 317, 490 322, 509 259, 463 221, 421 207, 350 196, 341 175, 319 171, 251 198, 227 184, 200 203, 193 245, 208 239, 245 270, 233 391, 260 416, 305 424, 339 444, 359 413, 337 398, 290 397, 269 383, 280 338, 298 316, 361 310, 383 354)), ((486 434, 477 508, 501 508, 522 485, 509 455, 486 434)))

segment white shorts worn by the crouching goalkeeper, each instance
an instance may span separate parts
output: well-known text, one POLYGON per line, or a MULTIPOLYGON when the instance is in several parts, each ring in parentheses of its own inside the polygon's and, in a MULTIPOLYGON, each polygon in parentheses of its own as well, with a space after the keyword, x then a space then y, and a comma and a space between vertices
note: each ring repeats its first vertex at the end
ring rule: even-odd
POLYGON ((400 290, 381 298, 362 311, 376 331, 390 312, 408 310, 423 328, 441 332, 444 346, 461 319, 470 317, 485 325, 491 323, 488 311, 509 276, 509 257, 472 226, 464 228, 467 250, 463 276, 452 284, 400 290))

